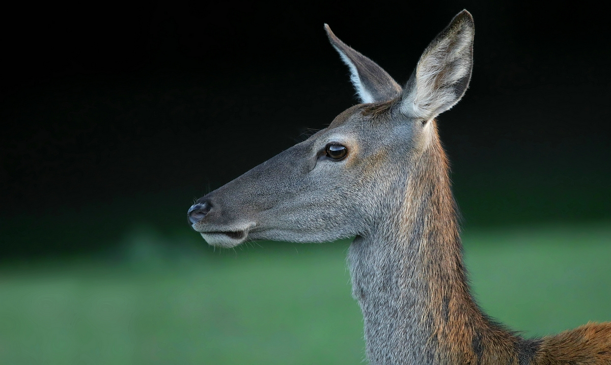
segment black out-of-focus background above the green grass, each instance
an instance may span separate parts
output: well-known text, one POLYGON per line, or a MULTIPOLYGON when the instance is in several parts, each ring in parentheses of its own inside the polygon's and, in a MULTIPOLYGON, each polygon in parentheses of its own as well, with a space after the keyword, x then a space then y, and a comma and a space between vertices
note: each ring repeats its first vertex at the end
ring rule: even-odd
MULTIPOLYGON (((0 255, 93 253, 356 104, 323 23, 408 78, 462 9, 470 89, 439 120, 466 228, 609 219, 609 21, 585 2, 89 2, 7 7, 0 255)), ((202 242, 203 243, 203 242, 202 242)))

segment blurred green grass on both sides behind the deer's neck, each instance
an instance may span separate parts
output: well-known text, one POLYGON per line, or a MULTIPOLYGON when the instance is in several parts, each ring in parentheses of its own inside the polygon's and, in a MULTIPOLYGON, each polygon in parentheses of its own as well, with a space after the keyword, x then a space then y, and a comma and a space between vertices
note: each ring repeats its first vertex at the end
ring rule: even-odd
MULTIPOLYGON (((191 233, 191 232, 189 232, 191 233)), ((611 320, 611 222, 463 234, 478 302, 527 336, 611 320)), ((5 364, 356 364, 348 241, 205 247, 133 229, 97 258, 4 262, 5 364)))

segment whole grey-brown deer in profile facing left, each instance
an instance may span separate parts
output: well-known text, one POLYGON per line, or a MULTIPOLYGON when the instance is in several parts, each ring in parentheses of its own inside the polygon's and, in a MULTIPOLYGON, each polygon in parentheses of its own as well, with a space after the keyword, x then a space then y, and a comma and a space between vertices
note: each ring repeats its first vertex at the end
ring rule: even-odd
POLYGON ((370 364, 611 364, 611 322, 523 338, 472 298, 436 121, 469 85, 472 15, 453 18, 403 87, 324 29, 360 103, 199 198, 192 229, 225 248, 354 237, 348 266, 370 364))

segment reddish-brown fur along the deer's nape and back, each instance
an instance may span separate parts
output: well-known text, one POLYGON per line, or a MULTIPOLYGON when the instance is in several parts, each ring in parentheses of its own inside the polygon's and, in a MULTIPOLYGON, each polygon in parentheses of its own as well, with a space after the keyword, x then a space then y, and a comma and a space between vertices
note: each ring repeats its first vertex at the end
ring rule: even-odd
MULTIPOLYGON (((422 140, 408 181, 404 227, 423 219, 421 261, 431 284, 430 307, 423 318, 433 319, 431 341, 439 344, 441 364, 610 365, 611 322, 590 323, 529 344, 492 322, 470 296, 450 190, 448 161, 439 142, 436 122, 431 139, 422 140), (431 201, 423 202, 423 197, 431 201), (428 318, 427 318, 428 317, 428 318), (525 349, 521 353, 521 349, 525 349), (532 353, 530 352, 532 349, 532 353), (449 354, 449 358, 447 358, 449 354)), ((405 234, 408 234, 406 232, 405 234)))

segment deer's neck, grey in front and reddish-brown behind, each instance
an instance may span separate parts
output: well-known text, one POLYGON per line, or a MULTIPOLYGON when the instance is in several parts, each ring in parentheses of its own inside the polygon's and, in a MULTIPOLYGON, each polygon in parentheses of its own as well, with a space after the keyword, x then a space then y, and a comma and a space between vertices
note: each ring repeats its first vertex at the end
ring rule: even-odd
POLYGON ((491 324, 470 296, 447 161, 436 133, 414 159, 393 197, 403 204, 369 234, 356 237, 348 253, 368 359, 484 364, 492 352, 511 357, 515 338, 491 324))

